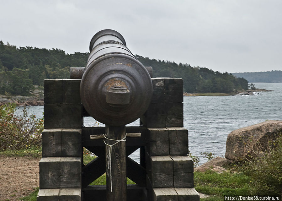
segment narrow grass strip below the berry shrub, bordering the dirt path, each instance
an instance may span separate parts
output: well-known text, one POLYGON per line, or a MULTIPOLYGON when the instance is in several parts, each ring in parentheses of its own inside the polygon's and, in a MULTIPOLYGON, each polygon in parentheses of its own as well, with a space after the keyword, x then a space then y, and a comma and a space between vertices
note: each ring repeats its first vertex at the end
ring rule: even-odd
POLYGON ((10 150, 6 149, 4 151, 0 151, 0 155, 8 156, 8 157, 20 157, 20 156, 31 156, 34 158, 41 158, 42 157, 42 148, 38 147, 29 147, 27 149, 20 149, 20 150, 10 150))

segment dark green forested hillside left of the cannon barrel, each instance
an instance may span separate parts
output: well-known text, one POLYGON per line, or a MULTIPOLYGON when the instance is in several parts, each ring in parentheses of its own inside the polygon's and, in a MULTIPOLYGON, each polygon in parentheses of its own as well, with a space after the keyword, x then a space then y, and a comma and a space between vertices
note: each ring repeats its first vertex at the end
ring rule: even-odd
POLYGON ((84 67, 89 53, 19 47, 0 41, 0 94, 29 95, 44 79, 69 78, 70 67, 84 67))

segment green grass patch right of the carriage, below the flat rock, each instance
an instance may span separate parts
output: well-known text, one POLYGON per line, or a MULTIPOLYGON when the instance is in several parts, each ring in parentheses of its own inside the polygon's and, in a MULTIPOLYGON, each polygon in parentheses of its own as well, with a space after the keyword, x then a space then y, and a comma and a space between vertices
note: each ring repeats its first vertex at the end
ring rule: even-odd
MULTIPOLYGON (((251 193, 251 179, 242 173, 223 172, 212 170, 194 172, 195 189, 199 193, 208 195, 248 195, 251 193)), ((217 198, 214 198, 217 199, 217 198)))

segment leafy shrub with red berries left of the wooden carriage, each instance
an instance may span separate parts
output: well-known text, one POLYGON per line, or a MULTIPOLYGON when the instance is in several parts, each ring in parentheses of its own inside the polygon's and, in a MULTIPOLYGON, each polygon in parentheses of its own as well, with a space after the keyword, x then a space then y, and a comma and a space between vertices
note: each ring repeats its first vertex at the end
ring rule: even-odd
POLYGON ((29 114, 25 107, 19 113, 15 111, 15 104, 0 106, 0 150, 40 147, 43 118, 29 114))

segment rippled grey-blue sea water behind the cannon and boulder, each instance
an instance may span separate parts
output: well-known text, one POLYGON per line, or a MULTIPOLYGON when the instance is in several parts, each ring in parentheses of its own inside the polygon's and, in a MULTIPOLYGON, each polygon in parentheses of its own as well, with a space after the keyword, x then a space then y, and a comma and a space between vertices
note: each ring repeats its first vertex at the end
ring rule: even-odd
MULTIPOLYGON (((227 135, 231 131, 269 120, 282 120, 282 83, 254 83, 257 88, 274 90, 256 95, 184 97, 184 127, 189 131, 192 155, 212 152, 225 155, 227 135)), ((42 117, 43 106, 30 106, 30 112, 42 117)), ((85 126, 104 126, 92 117, 84 117, 85 126)), ((139 126, 139 121, 129 124, 139 126)), ((131 158, 139 162, 138 150, 131 158)), ((201 158, 201 157, 200 157, 201 158)), ((201 158, 200 164, 206 159, 201 158)))

